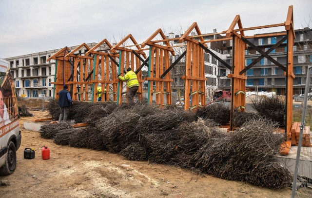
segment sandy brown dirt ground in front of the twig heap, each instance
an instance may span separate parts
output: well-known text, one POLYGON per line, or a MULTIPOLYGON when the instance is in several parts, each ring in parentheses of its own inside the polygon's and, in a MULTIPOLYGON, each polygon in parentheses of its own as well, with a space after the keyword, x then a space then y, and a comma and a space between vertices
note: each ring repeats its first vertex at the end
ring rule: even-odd
MULTIPOLYGON (((49 117, 47 111, 30 111, 35 118, 49 117)), ((0 176, 9 185, 0 185, 1 198, 285 198, 291 188, 271 190, 209 175, 204 177, 180 167, 130 161, 106 151, 60 146, 42 139, 39 132, 23 128, 17 152, 17 168, 0 176), (41 148, 50 148, 50 159, 41 158, 41 148), (34 148, 36 157, 24 159, 25 148, 34 148)), ((311 195, 311 194, 310 194, 311 195)), ((305 197, 305 196, 300 196, 305 197)))

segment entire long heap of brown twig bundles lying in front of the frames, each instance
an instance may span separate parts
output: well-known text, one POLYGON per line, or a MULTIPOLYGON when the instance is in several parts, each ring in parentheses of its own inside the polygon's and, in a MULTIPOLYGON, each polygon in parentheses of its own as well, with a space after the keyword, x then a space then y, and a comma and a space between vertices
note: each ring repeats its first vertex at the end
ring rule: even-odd
POLYGON ((253 119, 233 133, 225 133, 215 127, 220 122, 209 117, 224 109, 219 105, 196 114, 147 105, 110 105, 88 107, 85 112, 94 111, 94 116, 103 117, 89 120, 91 124, 84 128, 47 124, 41 127, 40 135, 62 145, 108 150, 130 160, 178 165, 273 189, 283 188, 292 180, 289 171, 274 159, 283 135, 273 133, 276 123, 272 121, 253 119), (195 121, 195 115, 209 119, 195 121))

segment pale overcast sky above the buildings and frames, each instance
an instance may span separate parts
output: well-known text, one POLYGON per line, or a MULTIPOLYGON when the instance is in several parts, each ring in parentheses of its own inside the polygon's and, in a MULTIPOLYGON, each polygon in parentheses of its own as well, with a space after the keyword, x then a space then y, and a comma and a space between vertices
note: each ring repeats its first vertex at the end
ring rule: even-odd
POLYGON ((243 27, 283 23, 289 5, 295 29, 312 26, 312 0, 0 0, 0 57, 128 34, 141 43, 158 28, 176 34, 193 22, 202 33, 221 32, 238 14, 243 27))

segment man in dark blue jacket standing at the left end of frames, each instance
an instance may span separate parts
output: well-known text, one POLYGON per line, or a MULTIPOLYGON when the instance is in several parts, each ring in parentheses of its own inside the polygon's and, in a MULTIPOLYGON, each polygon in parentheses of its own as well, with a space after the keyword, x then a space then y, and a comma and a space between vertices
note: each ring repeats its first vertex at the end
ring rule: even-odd
POLYGON ((65 84, 64 89, 59 91, 59 107, 60 107, 60 115, 59 115, 59 122, 66 121, 69 107, 73 104, 73 100, 70 97, 68 86, 65 84))

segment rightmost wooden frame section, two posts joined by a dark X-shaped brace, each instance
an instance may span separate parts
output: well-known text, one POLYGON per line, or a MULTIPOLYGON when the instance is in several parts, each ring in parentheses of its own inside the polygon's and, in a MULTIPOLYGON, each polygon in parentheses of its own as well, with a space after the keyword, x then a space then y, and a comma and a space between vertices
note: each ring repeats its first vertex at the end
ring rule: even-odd
POLYGON ((247 79, 244 73, 250 69, 254 64, 263 57, 271 60, 276 66, 281 68, 284 71, 286 76, 286 126, 285 126, 285 140, 291 138, 291 128, 292 128, 292 86, 293 86, 293 43, 295 39, 294 29, 293 29, 293 7, 289 6, 287 19, 284 23, 265 25, 259 27, 243 28, 239 16, 236 16, 232 22, 230 28, 226 32, 227 37, 233 37, 233 66, 232 74, 228 77, 232 78, 232 102, 231 102, 231 126, 230 129, 233 130, 232 120, 234 118, 234 108, 239 108, 241 111, 245 109, 245 80, 247 79), (234 30, 234 26, 238 24, 239 29, 234 30), (255 46, 252 42, 247 40, 247 38, 256 38, 257 36, 246 37, 243 31, 255 30, 262 28, 271 28, 285 26, 286 33, 275 33, 275 34, 266 34, 261 35, 261 37, 272 37, 272 36, 284 36, 276 44, 274 44, 266 52, 262 51, 259 47, 255 46), (238 34, 237 32, 240 32, 238 34), (287 41, 287 64, 283 66, 281 63, 269 56, 269 53, 272 52, 277 46, 279 46, 284 41, 287 41), (250 65, 246 68, 244 65, 244 52, 246 49, 246 44, 254 48, 257 52, 261 54, 260 57, 255 59, 250 65), (242 97, 243 96, 243 97, 242 97))

